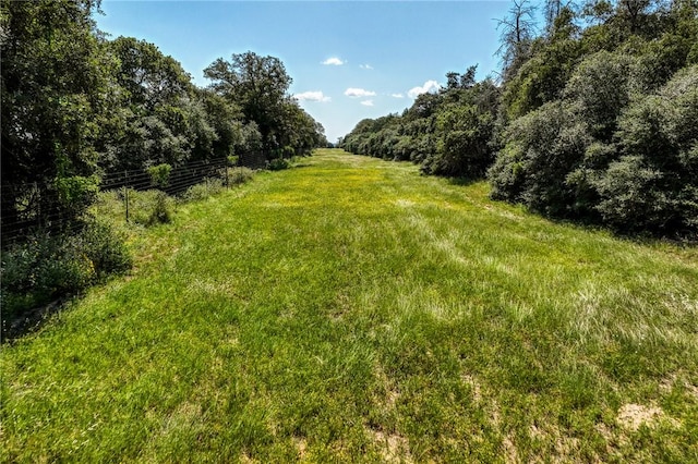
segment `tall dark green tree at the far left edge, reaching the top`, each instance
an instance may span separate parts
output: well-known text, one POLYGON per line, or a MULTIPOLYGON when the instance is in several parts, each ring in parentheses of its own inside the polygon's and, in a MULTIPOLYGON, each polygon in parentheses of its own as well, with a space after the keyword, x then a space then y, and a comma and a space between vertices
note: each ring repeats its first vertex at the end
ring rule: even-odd
POLYGON ((116 66, 95 33, 97 8, 91 0, 2 2, 3 227, 17 219, 26 183, 36 183, 38 209, 67 219, 95 191, 94 143, 111 110, 116 66))

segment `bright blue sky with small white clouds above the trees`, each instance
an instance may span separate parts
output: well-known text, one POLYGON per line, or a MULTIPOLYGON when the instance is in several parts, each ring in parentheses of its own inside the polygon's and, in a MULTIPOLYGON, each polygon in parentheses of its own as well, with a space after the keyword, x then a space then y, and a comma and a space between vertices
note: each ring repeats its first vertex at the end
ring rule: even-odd
POLYGON ((450 71, 495 76, 496 20, 508 1, 103 0, 97 27, 155 44, 194 83, 214 60, 253 51, 280 59, 289 91, 329 142, 365 118, 400 113, 450 71))

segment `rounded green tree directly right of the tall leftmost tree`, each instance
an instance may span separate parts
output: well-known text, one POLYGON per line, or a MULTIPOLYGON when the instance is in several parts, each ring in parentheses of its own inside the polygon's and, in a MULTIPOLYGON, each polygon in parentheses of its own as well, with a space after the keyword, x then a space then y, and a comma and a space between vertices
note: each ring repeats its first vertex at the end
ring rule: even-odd
POLYGON ((107 44, 118 60, 112 117, 99 141, 107 171, 136 170, 206 158, 216 138, 191 76, 154 44, 119 37, 107 44))

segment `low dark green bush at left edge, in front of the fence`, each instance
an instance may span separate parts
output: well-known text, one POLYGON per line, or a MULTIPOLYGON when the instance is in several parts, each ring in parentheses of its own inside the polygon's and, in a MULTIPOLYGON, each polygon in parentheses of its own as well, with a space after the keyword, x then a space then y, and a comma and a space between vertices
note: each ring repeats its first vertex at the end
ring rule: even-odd
POLYGON ((14 318, 130 267, 122 237, 94 219, 75 234, 37 233, 2 253, 2 317, 14 318))

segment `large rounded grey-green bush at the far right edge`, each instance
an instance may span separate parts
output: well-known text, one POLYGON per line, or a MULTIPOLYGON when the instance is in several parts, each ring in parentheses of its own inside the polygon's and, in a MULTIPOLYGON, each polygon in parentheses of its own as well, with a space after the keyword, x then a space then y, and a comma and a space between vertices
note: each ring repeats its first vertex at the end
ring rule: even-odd
POLYGON ((698 229, 698 65, 633 102, 616 133, 624 155, 594 185, 603 219, 625 231, 698 229))

